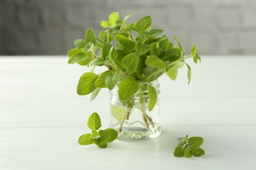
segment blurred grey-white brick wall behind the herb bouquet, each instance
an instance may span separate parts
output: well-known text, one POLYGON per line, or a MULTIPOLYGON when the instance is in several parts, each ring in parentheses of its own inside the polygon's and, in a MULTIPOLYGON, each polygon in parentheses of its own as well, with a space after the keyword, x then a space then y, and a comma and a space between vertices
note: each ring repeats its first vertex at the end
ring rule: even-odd
POLYGON ((152 16, 187 51, 256 54, 256 0, 0 0, 0 54, 66 54, 113 11, 152 16))

